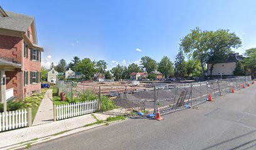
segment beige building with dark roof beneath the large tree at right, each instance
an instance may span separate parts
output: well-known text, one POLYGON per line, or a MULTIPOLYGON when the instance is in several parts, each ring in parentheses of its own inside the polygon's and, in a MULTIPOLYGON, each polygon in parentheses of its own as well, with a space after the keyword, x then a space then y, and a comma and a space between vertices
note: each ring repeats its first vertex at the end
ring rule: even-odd
MULTIPOLYGON (((237 62, 243 61, 243 56, 239 55, 239 53, 230 54, 227 60, 220 61, 219 63, 215 63, 212 70, 212 76, 232 76, 233 71, 237 67, 237 62)), ((207 74, 210 76, 211 63, 207 64, 207 74)))

